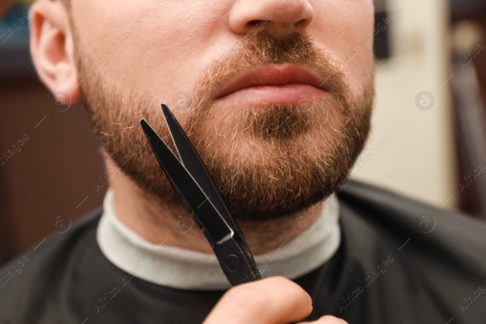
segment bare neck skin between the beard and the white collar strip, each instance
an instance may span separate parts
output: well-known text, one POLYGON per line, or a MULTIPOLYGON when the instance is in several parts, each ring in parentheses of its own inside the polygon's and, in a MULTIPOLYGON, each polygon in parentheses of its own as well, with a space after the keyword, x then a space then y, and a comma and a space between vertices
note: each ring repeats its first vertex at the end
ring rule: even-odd
MULTIPOLYGON (((114 162, 104 154, 106 170, 112 170, 114 162)), ((124 174, 116 172, 109 180, 113 190, 113 205, 118 219, 137 232, 141 237, 154 244, 175 246, 202 253, 213 253, 203 230, 195 223, 191 227, 189 214, 182 205, 165 206, 152 193, 147 193, 124 174), (178 226, 183 221, 185 227, 178 226), (187 230, 187 228, 191 228, 187 230)), ((293 239, 301 232, 295 219, 305 216, 316 221, 320 216, 319 205, 296 214, 293 217, 278 218, 265 222, 237 221, 253 254, 259 255, 277 249, 287 239, 293 239)), ((301 229, 302 231, 302 229, 301 229)))

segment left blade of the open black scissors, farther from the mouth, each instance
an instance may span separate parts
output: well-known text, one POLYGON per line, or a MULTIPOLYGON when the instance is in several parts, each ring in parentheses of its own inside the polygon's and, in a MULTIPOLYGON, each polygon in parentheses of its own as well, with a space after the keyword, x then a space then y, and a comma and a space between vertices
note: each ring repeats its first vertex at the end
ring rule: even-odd
POLYGON ((233 230, 167 144, 157 135, 145 119, 140 120, 140 125, 156 155, 158 163, 174 187, 175 192, 182 196, 189 205, 190 208, 188 209, 191 209, 190 211, 196 214, 216 243, 219 244, 231 238, 234 234, 233 230))

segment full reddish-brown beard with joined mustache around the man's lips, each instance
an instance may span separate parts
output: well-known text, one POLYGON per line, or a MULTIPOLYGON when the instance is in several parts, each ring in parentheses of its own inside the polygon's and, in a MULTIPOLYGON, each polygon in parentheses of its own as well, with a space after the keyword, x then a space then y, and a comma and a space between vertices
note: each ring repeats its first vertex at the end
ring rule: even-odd
MULTIPOLYGON (((87 75, 93 60, 76 48, 79 75, 87 75)), ((293 215, 339 188, 368 135, 373 76, 363 85, 361 97, 355 98, 339 63, 299 33, 280 38, 260 32, 203 71, 185 108, 168 106, 236 219, 258 222, 293 215), (303 94, 307 97, 303 103, 262 102, 236 108, 208 96, 244 69, 288 62, 319 73, 330 95, 303 94)), ((113 80, 90 73, 81 85, 103 150, 147 196, 155 194, 161 203, 181 205, 139 126, 145 118, 176 152, 159 108, 163 101, 113 80)))

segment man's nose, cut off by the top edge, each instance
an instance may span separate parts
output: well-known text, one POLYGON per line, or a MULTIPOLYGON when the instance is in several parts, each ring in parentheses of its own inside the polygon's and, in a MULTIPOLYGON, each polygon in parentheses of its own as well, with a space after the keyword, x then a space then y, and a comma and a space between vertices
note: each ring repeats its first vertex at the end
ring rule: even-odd
POLYGON ((313 16, 307 0, 239 0, 229 13, 229 26, 236 34, 247 34, 252 28, 289 34, 304 31, 313 16))

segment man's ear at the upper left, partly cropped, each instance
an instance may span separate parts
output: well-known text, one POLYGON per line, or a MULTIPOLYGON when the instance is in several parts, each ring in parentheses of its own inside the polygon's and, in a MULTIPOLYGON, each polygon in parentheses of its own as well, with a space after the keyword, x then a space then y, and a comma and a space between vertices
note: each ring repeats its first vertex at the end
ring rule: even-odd
POLYGON ((69 16, 61 1, 39 0, 31 7, 30 51, 39 78, 56 99, 76 102, 81 90, 69 16))

